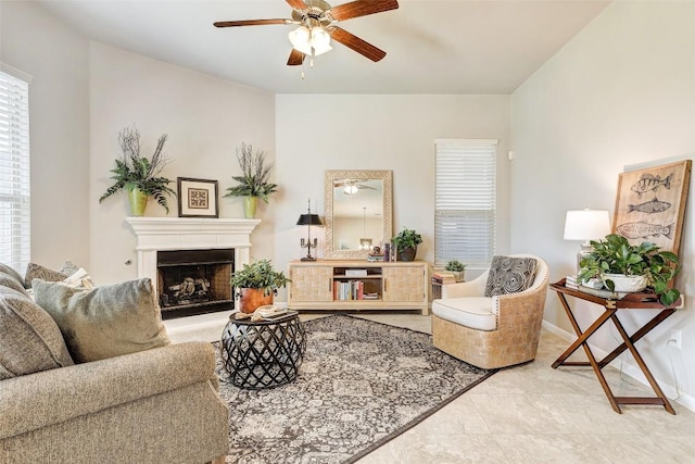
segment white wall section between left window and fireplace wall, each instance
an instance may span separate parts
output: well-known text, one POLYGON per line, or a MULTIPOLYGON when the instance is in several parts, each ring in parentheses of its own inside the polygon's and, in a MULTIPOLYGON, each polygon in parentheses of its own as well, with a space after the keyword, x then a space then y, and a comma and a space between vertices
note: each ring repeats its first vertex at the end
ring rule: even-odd
POLYGON ((34 77, 31 260, 53 268, 89 263, 87 60, 87 39, 36 3, 0 3, 0 61, 34 77))

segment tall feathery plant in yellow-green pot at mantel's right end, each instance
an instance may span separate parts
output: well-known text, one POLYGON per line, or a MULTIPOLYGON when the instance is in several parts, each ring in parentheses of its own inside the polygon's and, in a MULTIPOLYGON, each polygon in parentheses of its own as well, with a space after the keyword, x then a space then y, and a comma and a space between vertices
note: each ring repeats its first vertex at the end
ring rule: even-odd
POLYGON ((268 196, 277 191, 277 184, 269 181, 273 164, 266 164, 265 152, 253 153, 251 145, 241 143, 237 149, 237 160, 241 167, 240 176, 231 176, 239 183, 227 189, 225 197, 243 197, 244 217, 252 220, 256 214, 258 199, 268 202, 268 196))

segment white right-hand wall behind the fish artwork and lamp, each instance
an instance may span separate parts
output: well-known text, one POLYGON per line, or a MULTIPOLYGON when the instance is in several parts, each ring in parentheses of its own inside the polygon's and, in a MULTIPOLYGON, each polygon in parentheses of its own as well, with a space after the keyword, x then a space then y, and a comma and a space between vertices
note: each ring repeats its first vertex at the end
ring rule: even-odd
MULTIPOLYGON (((578 242, 563 240, 565 213, 605 209, 612 214, 618 174, 626 165, 695 156, 695 3, 615 2, 513 96, 511 250, 544 256, 553 280, 571 273, 578 242), (552 195, 548 195, 552 193, 552 195)), ((678 384, 695 406, 695 252, 692 191, 681 247, 678 286, 687 299, 639 342, 660 380, 678 384), (667 348, 671 328, 683 349, 667 348), (670 353, 669 353, 670 351, 670 353)), ((584 327, 599 312, 585 304, 584 327)), ((623 314, 628 330, 654 312, 623 314)), ((572 333, 554 292, 545 321, 572 333)), ((610 351, 618 337, 592 339, 610 351)), ((559 354, 559 353, 558 353, 559 354)), ((624 356, 632 363, 632 358, 624 356)), ((636 371, 632 368, 632 371, 636 371)), ((674 390, 669 389, 671 394, 674 390)))

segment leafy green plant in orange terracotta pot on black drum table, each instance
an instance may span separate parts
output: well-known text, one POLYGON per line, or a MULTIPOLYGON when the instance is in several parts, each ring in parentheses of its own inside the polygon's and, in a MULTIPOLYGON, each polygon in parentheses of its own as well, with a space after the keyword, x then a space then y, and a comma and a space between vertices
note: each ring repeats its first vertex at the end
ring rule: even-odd
POLYGON ((253 313, 256 308, 273 304, 273 297, 278 288, 289 283, 281 271, 275 271, 269 260, 258 260, 252 264, 244 264, 241 271, 231 276, 231 286, 239 298, 239 310, 242 313, 253 313))

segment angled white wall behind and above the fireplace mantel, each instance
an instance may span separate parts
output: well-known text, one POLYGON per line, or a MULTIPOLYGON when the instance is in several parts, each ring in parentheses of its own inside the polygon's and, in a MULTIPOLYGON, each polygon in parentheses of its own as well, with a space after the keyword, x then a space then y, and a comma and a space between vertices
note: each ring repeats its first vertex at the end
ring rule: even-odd
MULTIPOLYGON (((241 86, 190 70, 159 62, 121 49, 90 46, 90 271, 100 284, 137 276, 135 235, 125 222, 126 195, 119 192, 101 204, 111 185, 109 171, 122 155, 118 133, 135 124, 142 154, 151 156, 157 138, 168 134, 165 153, 173 162, 162 173, 174 180, 193 177, 219 181, 219 216, 243 217, 241 199, 222 198, 239 175, 236 149, 242 142, 275 159, 275 101, 267 91, 241 86), (125 264, 132 260, 132 265, 125 264)), ((177 216, 177 200, 169 200, 169 216, 177 216)), ((273 258, 274 209, 258 203, 261 225, 252 235, 251 254, 273 258)), ((148 216, 164 216, 155 201, 148 216)))

